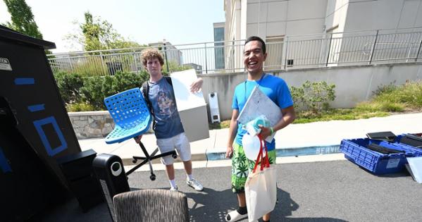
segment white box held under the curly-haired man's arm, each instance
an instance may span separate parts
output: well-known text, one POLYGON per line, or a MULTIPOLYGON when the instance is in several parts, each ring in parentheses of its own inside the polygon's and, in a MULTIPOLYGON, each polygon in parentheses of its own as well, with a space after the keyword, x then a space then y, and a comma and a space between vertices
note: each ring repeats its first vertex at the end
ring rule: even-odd
POLYGON ((190 85, 197 80, 194 69, 170 74, 175 92, 180 120, 189 142, 209 138, 208 116, 202 92, 190 92, 190 85))

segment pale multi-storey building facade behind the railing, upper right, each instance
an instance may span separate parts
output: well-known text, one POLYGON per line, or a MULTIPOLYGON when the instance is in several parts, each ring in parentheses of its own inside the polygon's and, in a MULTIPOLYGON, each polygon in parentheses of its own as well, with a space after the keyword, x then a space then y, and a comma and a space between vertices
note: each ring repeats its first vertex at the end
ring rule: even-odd
MULTIPOLYGON (((252 35, 261 37, 267 42, 270 55, 266 67, 272 69, 301 65, 305 56, 315 58, 315 63, 335 66, 335 62, 345 56, 342 51, 349 44, 345 37, 352 36, 351 32, 368 31, 368 35, 375 36, 378 33, 374 30, 422 30, 422 0, 225 0, 224 6, 226 41, 252 35), (322 38, 334 40, 314 43, 319 49, 300 50, 306 47, 300 41, 322 38), (285 51, 287 44, 299 50, 285 51), (291 58, 287 58, 289 54, 291 58), (332 56, 325 58, 321 54, 332 56)), ((368 47, 367 54, 371 51, 371 42, 368 38, 364 43, 368 47)), ((226 64, 240 66, 242 55, 236 49, 225 50, 226 64)))

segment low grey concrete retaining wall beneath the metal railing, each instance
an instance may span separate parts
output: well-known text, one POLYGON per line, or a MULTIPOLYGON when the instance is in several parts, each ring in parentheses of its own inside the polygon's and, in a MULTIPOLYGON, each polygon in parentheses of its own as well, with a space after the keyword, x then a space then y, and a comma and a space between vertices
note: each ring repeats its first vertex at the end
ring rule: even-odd
MULTIPOLYGON (((351 108, 371 98, 378 86, 402 85, 407 80, 422 80, 421 63, 396 63, 367 66, 337 66, 327 68, 306 68, 274 71, 273 75, 283 78, 289 86, 301 86, 306 80, 325 81, 335 84, 335 108, 351 108)), ((222 120, 231 118, 232 96, 235 87, 244 82, 246 73, 218 73, 198 75, 204 79, 202 92, 208 103, 208 94, 218 93, 218 105, 222 120)))

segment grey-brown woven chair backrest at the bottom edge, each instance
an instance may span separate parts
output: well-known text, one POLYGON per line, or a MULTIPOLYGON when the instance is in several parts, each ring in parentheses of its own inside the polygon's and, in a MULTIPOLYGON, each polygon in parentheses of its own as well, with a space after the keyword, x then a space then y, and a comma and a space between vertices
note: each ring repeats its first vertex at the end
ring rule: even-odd
POLYGON ((170 190, 135 190, 113 197, 118 222, 189 221, 187 198, 170 190))

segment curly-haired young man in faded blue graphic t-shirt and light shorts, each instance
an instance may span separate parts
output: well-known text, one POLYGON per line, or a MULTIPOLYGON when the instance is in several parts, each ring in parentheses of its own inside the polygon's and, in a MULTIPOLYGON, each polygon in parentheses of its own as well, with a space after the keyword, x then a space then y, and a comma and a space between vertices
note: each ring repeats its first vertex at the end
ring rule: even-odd
MULTIPOLYGON (((157 145, 161 153, 174 149, 178 151, 187 174, 186 183, 197 191, 204 189, 201 183, 192 176, 192 160, 190 143, 185 135, 178 109, 176 107, 173 86, 163 78, 161 67, 164 64, 163 56, 156 49, 145 49, 142 52, 142 64, 149 73, 148 98, 154 113, 154 132, 157 145)), ((198 92, 202 86, 202 79, 198 78, 191 85, 192 92, 198 92)), ((141 90, 143 92, 143 90, 141 90)), ((144 95, 146 96, 146 95, 144 95)), ((141 141, 142 135, 135 138, 141 141)), ((170 190, 178 190, 175 183, 174 159, 172 156, 163 156, 161 162, 166 165, 166 173, 170 182, 170 190)))

